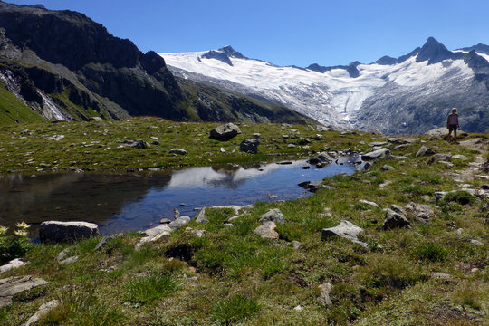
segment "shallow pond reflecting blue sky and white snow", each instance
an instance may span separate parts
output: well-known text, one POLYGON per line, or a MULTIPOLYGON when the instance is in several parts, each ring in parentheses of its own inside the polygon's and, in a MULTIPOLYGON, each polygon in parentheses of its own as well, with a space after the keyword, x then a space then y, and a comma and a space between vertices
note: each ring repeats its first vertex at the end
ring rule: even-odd
POLYGON ((302 169, 305 161, 270 163, 252 168, 186 168, 151 174, 57 174, 0 176, 0 225, 24 221, 87 221, 100 225, 101 234, 137 231, 173 218, 195 216, 203 206, 253 204, 308 196, 297 184, 340 173, 351 174, 352 158, 340 158, 325 168, 302 169))

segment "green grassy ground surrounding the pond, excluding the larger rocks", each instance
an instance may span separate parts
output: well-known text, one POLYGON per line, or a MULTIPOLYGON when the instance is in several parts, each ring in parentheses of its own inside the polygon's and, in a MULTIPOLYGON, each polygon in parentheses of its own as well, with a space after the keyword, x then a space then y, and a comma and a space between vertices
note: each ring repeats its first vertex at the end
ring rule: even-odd
MULTIPOLYGON (((132 170, 155 163, 172 167, 309 157, 312 150, 324 148, 366 152, 369 142, 387 140, 371 133, 242 124, 243 135, 220 143, 207 139, 213 126, 137 119, 2 127, 0 137, 17 149, 3 146, 0 162, 6 162, 3 171, 31 172, 43 168, 40 162, 51 164, 44 170, 64 170, 72 161, 76 164, 71 168, 88 169, 98 163, 95 168, 103 171, 132 170), (20 135, 21 129, 32 135, 20 135), (307 149, 290 137, 296 133, 291 129, 306 138, 320 133, 322 139, 312 140, 307 149), (259 154, 231 152, 254 132, 262 134, 259 154), (44 139, 54 134, 65 137, 44 139), (161 145, 115 149, 116 140, 124 135, 158 137, 161 145), (168 155, 172 147, 187 149, 187 157, 168 155), (220 153, 221 147, 225 153, 220 153), (25 164, 28 158, 35 163, 25 164)), ((475 137, 486 135, 465 139, 475 137)), ((0 277, 30 274, 49 284, 14 297, 11 306, 0 309, 0 323, 24 322, 43 302, 57 299, 60 306, 40 325, 487 324, 488 203, 460 190, 481 189, 487 183, 475 177, 486 176, 475 168, 484 159, 486 145, 450 144, 421 136, 399 148, 385 146, 402 158, 376 161, 352 176, 328 177, 323 180, 327 187, 311 197, 256 203, 242 210, 232 225, 225 222, 235 216, 234 211, 207 209, 209 223, 192 221, 139 250, 136 233, 116 235, 101 251, 93 251, 100 238, 74 245, 35 245, 25 256, 29 264, 0 277), (449 165, 433 156, 416 158, 421 145, 466 159, 453 158, 449 165), (435 192, 440 190, 458 192, 437 201, 435 192), (384 230, 383 208, 410 202, 427 206, 430 218, 422 222, 409 216, 408 228, 384 230), (271 208, 279 208, 285 216, 285 223, 276 227, 278 240, 254 234, 261 225, 259 217, 271 208), (322 228, 342 220, 363 228, 359 239, 367 246, 340 237, 321 240, 322 228), (197 229, 206 234, 197 237, 193 234, 197 229), (79 260, 60 264, 56 256, 65 248, 68 256, 78 255, 79 260), (331 302, 326 304, 319 300, 319 286, 324 283, 331 284, 331 302)))

